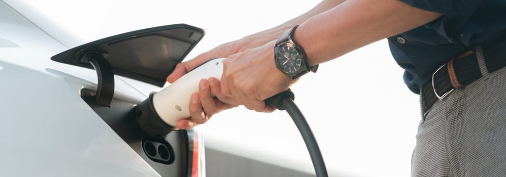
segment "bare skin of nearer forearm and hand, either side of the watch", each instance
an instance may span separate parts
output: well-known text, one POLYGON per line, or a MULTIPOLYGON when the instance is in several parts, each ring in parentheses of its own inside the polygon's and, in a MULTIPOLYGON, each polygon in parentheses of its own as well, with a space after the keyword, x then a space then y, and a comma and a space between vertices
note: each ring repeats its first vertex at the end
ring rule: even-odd
MULTIPOLYGON (((395 0, 350 0, 306 20, 294 38, 305 50, 309 64, 316 65, 439 16, 395 0)), ((276 68, 273 45, 274 41, 228 57, 221 94, 248 109, 272 111, 263 100, 296 82, 276 68)))

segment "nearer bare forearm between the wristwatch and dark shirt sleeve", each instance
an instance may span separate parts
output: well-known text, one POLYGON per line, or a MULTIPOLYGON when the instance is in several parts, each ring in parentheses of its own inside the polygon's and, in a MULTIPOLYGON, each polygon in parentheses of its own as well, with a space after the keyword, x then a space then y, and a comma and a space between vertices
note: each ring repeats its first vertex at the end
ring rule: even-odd
POLYGON ((347 1, 306 20, 297 28, 294 38, 312 66, 416 28, 439 16, 399 1, 347 1))

